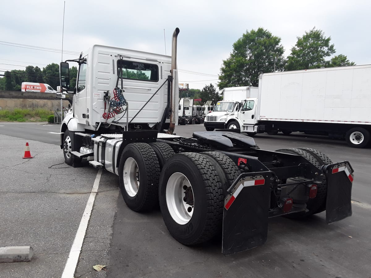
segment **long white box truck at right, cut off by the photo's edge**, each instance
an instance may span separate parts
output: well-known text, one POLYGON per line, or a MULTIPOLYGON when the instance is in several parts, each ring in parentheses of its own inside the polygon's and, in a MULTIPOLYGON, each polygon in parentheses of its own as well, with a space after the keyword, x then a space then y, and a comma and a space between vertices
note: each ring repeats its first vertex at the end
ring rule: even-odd
POLYGON ((371 132, 371 65, 263 73, 258 97, 244 100, 226 126, 250 135, 329 135, 363 148, 371 132))

